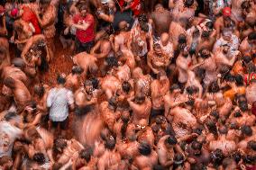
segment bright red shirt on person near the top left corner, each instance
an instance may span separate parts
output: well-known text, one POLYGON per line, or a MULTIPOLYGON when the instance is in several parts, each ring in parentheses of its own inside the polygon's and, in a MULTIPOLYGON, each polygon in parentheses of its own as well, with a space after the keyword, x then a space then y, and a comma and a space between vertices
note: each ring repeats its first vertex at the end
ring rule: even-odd
POLYGON ((31 22, 34 28, 33 35, 41 34, 41 28, 35 13, 32 12, 31 8, 28 6, 23 6, 22 19, 24 22, 31 22))

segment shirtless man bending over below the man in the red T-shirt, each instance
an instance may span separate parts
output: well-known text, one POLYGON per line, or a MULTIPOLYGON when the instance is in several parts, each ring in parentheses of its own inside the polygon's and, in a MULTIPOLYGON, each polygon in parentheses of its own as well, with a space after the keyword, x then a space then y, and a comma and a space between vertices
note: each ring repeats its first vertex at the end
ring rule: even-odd
POLYGON ((87 73, 95 74, 98 69, 96 65, 97 58, 87 54, 87 52, 78 53, 72 59, 75 65, 83 68, 84 72, 81 75, 82 79, 87 78, 87 73))

